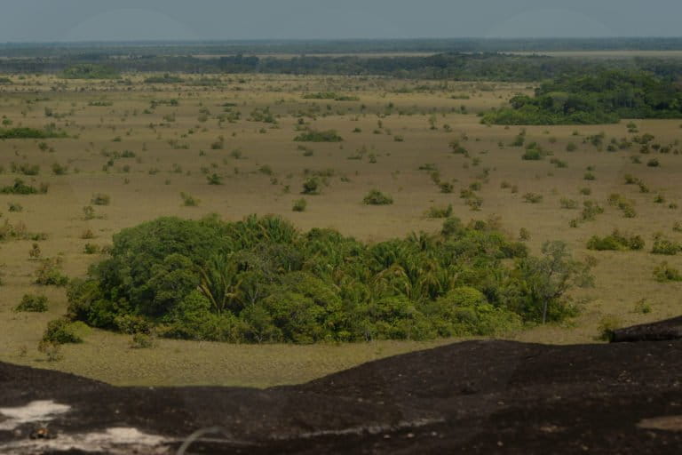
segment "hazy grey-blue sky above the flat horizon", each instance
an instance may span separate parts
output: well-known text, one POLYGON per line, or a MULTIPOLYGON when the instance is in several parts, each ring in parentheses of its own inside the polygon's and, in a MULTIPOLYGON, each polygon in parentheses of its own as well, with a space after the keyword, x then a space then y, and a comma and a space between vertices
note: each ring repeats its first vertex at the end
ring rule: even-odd
POLYGON ((682 0, 0 0, 0 42, 680 36, 682 0))

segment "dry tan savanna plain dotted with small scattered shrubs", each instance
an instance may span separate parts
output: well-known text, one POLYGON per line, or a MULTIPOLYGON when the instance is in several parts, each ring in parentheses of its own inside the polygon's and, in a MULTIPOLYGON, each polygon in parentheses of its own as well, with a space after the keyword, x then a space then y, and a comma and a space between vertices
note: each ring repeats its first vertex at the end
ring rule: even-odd
POLYGON ((54 124, 68 137, 0 141, 0 187, 15 179, 48 185, 45 194, 0 194, 2 361, 119 385, 266 387, 455 341, 295 346, 155 339, 153 347, 131 348, 130 335, 91 329, 84 343, 64 345, 60 360, 49 362, 38 342, 45 324, 65 313, 67 297, 63 287, 35 283, 42 261, 59 261, 67 276, 83 276, 106 254, 112 235, 160 216, 217 213, 240 220, 273 213, 297 228, 335 228, 377 242, 439 230, 442 220, 425 212, 451 204, 461 220, 497 219, 513 238, 523 230, 534 253, 545 241, 563 240, 577 258, 596 261, 595 287, 572 291, 579 315, 511 339, 599 342, 603 325, 679 314, 682 283, 661 283, 654 269, 663 261, 682 268, 682 254, 653 254, 651 247, 654 235, 682 241, 676 224, 682 223, 682 121, 480 123, 481 111, 514 93, 532 93, 527 84, 277 75, 216 75, 211 84, 194 84, 200 76, 171 84, 145 83, 139 75, 124 75, 128 84, 8 77, 13 84, 0 85, 3 127, 54 124), (304 96, 329 92, 337 96, 304 96), (335 130, 343 140, 294 141, 299 122, 335 130), (525 148, 512 145, 524 130, 526 143, 548 152, 542 159, 522 159, 525 148), (631 142, 646 133, 654 136, 647 154, 638 143, 609 147, 612 139, 631 142), (457 147, 468 153, 453 153, 457 147), (436 185, 433 172, 451 192, 436 185), (310 175, 320 177, 320 194, 301 195, 310 175), (475 204, 460 197, 472 184, 475 204), (393 204, 362 204, 372 188, 392 196, 393 204), (305 210, 292 210, 302 198, 305 210), (603 212, 582 220, 585 200, 603 212), (619 201, 635 216, 624 216, 619 201), (645 247, 587 249, 593 235, 615 228, 640 235, 645 247), (46 296, 48 310, 14 311, 27 293, 46 296))

